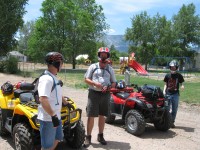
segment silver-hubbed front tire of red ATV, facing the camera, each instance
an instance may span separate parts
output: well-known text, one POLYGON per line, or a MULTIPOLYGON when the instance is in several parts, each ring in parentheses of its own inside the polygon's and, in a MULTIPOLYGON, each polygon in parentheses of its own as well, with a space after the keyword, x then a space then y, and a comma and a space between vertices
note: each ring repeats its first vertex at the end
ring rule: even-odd
POLYGON ((145 120, 143 115, 137 110, 129 110, 125 117, 125 127, 127 132, 139 136, 145 131, 145 120))

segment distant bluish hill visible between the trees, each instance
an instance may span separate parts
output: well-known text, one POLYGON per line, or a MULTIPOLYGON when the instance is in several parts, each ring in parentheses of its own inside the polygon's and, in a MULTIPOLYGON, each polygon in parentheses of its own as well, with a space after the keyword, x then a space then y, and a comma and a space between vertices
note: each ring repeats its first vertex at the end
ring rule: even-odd
POLYGON ((128 52, 128 42, 124 40, 123 35, 106 35, 103 41, 110 47, 114 45, 120 52, 128 52))

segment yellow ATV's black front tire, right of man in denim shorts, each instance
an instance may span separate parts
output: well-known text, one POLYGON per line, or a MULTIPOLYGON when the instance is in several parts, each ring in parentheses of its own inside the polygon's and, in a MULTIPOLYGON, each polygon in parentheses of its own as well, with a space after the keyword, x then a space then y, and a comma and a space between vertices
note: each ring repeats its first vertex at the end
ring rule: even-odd
POLYGON ((66 135, 67 132, 64 131, 64 137, 66 142, 70 147, 79 149, 82 147, 85 141, 85 127, 83 121, 79 120, 76 127, 71 129, 70 135, 66 135))

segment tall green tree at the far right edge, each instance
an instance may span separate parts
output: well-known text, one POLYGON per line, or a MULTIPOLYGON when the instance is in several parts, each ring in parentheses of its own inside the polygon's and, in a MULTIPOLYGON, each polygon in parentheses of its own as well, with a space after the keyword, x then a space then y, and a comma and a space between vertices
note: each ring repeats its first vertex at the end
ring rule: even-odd
POLYGON ((200 17, 195 15, 195 5, 183 5, 172 22, 176 38, 174 56, 193 56, 191 46, 200 44, 200 17))

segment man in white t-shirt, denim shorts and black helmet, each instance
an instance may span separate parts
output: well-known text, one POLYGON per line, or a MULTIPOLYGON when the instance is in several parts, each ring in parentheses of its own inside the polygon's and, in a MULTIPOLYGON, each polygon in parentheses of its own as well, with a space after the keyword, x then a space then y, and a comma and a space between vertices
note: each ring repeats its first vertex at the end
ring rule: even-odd
POLYGON ((67 102, 62 97, 62 89, 56 75, 61 70, 64 58, 58 52, 49 52, 45 57, 48 69, 39 78, 38 120, 40 121, 41 147, 54 150, 63 140, 61 107, 67 102), (52 88, 55 86, 54 88, 52 88))

